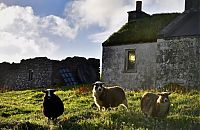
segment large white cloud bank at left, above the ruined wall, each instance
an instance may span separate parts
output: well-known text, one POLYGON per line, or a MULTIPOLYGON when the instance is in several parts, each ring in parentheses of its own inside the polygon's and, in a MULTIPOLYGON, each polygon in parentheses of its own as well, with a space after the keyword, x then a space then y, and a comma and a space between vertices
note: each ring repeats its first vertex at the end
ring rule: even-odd
POLYGON ((0 3, 0 62, 19 62, 23 58, 55 55, 55 39, 73 39, 77 28, 57 16, 35 16, 31 7, 0 3))

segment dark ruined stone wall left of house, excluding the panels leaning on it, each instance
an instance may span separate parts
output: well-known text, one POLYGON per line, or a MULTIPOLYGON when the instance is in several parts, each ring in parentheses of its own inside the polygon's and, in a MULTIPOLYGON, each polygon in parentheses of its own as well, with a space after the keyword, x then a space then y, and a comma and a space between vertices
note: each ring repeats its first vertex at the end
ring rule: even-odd
MULTIPOLYGON (((26 89, 34 87, 49 87, 63 81, 59 69, 67 67, 72 75, 78 79, 77 66, 85 63, 95 70, 96 79, 99 80, 100 60, 83 57, 66 58, 62 61, 50 60, 46 57, 22 60, 20 63, 0 63, 0 89, 26 89), (29 71, 33 70, 32 79, 29 71)), ((78 83, 81 83, 78 81, 78 83)))

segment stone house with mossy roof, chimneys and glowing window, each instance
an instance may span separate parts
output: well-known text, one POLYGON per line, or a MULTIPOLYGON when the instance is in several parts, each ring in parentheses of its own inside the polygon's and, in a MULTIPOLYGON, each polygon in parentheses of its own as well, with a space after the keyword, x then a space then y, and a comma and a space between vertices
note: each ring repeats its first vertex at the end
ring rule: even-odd
POLYGON ((103 45, 102 80, 126 88, 200 86, 200 0, 183 13, 148 15, 141 1, 103 45))

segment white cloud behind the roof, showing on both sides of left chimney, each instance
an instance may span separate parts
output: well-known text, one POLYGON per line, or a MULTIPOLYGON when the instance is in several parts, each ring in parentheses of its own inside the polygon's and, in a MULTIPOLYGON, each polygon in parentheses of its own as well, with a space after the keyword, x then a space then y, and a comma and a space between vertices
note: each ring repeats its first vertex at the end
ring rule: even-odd
MULTIPOLYGON (((127 12, 135 9, 136 0, 76 0, 66 7, 66 14, 80 28, 97 25, 102 32, 89 36, 93 42, 102 43, 119 30, 128 19, 127 12)), ((147 13, 183 11, 184 0, 143 0, 147 13)))

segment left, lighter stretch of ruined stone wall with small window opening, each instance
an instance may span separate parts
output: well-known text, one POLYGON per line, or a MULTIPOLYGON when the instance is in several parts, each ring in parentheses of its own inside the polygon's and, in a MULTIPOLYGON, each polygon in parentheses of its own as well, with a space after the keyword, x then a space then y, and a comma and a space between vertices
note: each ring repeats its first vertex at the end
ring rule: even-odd
POLYGON ((51 85, 52 63, 46 57, 22 60, 19 64, 0 64, 0 88, 31 88, 51 85), (29 70, 33 70, 29 80, 29 70))

